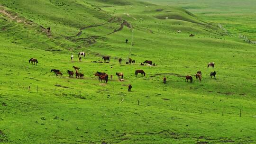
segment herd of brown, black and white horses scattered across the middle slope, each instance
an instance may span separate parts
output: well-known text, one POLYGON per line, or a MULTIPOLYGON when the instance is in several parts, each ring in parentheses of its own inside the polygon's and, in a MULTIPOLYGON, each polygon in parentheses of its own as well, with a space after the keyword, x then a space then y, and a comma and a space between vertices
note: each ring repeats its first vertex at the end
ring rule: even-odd
MULTIPOLYGON (((84 55, 84 56, 85 56, 85 53, 80 52, 80 53, 78 54, 78 56, 80 56, 80 55, 84 55)), ((71 59, 73 59, 73 55, 72 55, 71 59)), ((102 59, 104 59, 104 61, 107 60, 108 62, 110 62, 110 57, 109 57, 109 56, 103 56, 102 59)), ((35 58, 29 59, 28 62, 29 62, 29 63, 31 62, 31 64, 34 63, 34 65, 38 63, 37 59, 35 59, 35 58)), ((119 63, 121 63, 121 62, 122 62, 122 59, 119 58, 119 63)), ((131 58, 129 58, 129 62, 128 62, 128 63, 135 63, 135 60, 132 60, 131 58)), ((152 64, 152 61, 146 60, 146 61, 143 62, 143 63, 147 63, 147 64, 150 65, 150 66, 152 66, 152 65, 155 66, 155 63, 152 64)), ((141 63, 140 65, 142 65, 143 63, 141 63)), ((143 64, 143 65, 144 65, 144 64, 143 64)), ((208 63, 207 67, 209 68, 209 66, 211 66, 211 67, 214 68, 214 65, 215 65, 214 62, 210 62, 210 63, 208 63)), ((84 77, 84 74, 79 73, 80 67, 75 67, 75 66, 73 66, 73 69, 75 70, 75 72, 70 71, 70 70, 67 70, 67 73, 68 73, 68 76, 69 76, 69 77, 73 77, 74 74, 75 74, 75 77, 76 77, 76 78, 82 79, 82 78, 84 77)), ((60 72, 60 70, 57 70, 57 69, 52 69, 50 72, 54 72, 56 76, 63 76, 63 73, 60 72)), ((135 75, 136 75, 136 76, 138 76, 139 73, 140 73, 141 76, 146 76, 146 72, 144 72, 143 70, 136 70, 136 71, 135 71, 135 75)), ((119 78, 120 81, 124 81, 124 79, 123 79, 123 77, 124 77, 123 72, 116 72, 116 75, 118 76, 118 78, 119 78)), ((212 78, 212 76, 213 76, 213 78, 216 79, 215 75, 216 75, 216 72, 215 72, 215 71, 214 71, 214 72, 210 72, 210 78, 212 78)), ((96 72, 96 73, 94 73, 94 78, 95 78, 95 79, 96 79, 96 76, 98 77, 99 81, 102 82, 102 80, 104 80, 104 83, 108 83, 109 75, 108 75, 107 73, 105 73, 105 72, 96 72)), ((110 76, 111 79, 112 79, 112 77, 113 77, 113 75, 110 76)), ((196 79, 199 79, 199 81, 201 81, 202 72, 201 72, 201 71, 198 71, 198 72, 196 73, 196 75, 195 75, 195 78, 196 78, 196 79)), ((188 80, 190 80, 190 82, 192 82, 192 81, 193 81, 192 76, 187 75, 186 78, 185 78, 185 81, 188 82, 188 80)), ((163 78, 163 81, 164 81, 164 83, 166 83, 166 77, 163 78)), ((129 84, 129 85, 128 85, 128 91, 131 91, 131 88, 132 88, 132 86, 129 84)))

